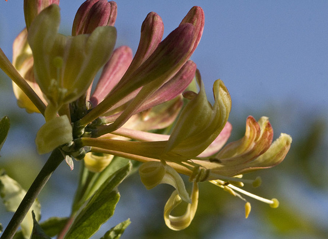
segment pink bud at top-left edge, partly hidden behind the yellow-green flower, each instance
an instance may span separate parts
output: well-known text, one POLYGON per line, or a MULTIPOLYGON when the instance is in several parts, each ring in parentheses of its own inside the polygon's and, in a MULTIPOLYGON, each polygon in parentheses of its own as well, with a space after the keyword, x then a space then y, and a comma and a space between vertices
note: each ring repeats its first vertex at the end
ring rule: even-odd
POLYGON ((29 29, 34 18, 51 4, 59 5, 59 0, 24 0, 24 15, 26 28, 29 29))

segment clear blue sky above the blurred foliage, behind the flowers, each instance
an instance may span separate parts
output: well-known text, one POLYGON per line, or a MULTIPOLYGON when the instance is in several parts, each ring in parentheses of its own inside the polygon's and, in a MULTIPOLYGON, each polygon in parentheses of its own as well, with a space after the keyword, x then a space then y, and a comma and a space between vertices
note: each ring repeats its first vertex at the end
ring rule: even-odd
MULTIPOLYGON (((0 47, 11 57, 11 44, 24 27, 23 1, 0 2, 0 47)), ((61 1, 62 29, 70 29, 83 1, 61 1)), ((198 5, 205 28, 193 61, 212 97, 221 78, 234 106, 268 102, 327 109, 327 1, 117 1, 118 45, 135 52, 142 21, 150 11, 165 24, 165 35, 198 5)))

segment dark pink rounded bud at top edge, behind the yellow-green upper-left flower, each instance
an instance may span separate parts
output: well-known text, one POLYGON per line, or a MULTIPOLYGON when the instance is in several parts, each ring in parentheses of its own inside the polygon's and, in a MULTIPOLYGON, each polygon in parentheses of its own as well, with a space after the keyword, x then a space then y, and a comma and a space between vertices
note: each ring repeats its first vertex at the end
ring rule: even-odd
POLYGON ((87 0, 76 12, 72 35, 92 33, 96 27, 114 26, 117 16, 115 2, 87 0))

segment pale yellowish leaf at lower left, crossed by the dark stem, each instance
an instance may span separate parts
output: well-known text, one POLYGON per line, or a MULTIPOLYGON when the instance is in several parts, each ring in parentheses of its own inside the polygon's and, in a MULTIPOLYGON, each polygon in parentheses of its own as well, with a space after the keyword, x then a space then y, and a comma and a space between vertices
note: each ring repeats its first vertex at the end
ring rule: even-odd
MULTIPOLYGON (((7 174, 2 174, 0 176, 0 195, 2 197, 3 203, 8 211, 14 212, 18 208, 20 202, 22 202, 26 191, 20 187, 20 185, 14 181, 7 174)), ((20 227, 24 238, 30 238, 32 228, 33 228, 33 218, 32 210, 36 214, 37 220, 40 219, 40 209, 41 205, 36 200, 30 210, 28 211, 26 217, 24 218, 20 227)))

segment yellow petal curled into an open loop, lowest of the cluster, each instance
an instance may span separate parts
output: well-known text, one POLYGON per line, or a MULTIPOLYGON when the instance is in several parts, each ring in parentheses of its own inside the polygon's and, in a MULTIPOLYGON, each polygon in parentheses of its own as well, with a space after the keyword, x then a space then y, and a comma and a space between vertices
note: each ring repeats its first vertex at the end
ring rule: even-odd
POLYGON ((198 206, 198 185, 196 182, 193 183, 193 190, 191 194, 192 202, 188 204, 185 214, 181 216, 170 215, 172 210, 181 203, 181 198, 176 190, 170 196, 164 208, 164 220, 170 229, 179 231, 187 228, 191 224, 198 206))

